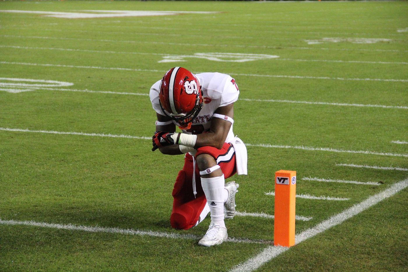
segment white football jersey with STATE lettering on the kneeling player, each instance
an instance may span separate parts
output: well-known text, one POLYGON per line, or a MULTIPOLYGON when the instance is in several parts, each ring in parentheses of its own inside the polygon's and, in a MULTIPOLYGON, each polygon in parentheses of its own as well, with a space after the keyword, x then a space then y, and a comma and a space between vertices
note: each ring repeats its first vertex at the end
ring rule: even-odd
MULTIPOLYGON (((234 103, 238 100, 239 89, 235 80, 226 74, 220 73, 201 73, 195 75, 200 81, 201 89, 203 91, 204 104, 197 117, 191 123, 191 129, 183 130, 187 134, 201 134, 209 131, 211 126, 211 119, 215 110, 234 103)), ((150 89, 150 101, 153 109, 161 115, 163 114, 159 103, 160 82, 157 81, 150 89)), ((173 120, 177 126, 179 124, 173 120)), ((225 142, 229 142, 234 138, 234 133, 231 128, 225 142)))

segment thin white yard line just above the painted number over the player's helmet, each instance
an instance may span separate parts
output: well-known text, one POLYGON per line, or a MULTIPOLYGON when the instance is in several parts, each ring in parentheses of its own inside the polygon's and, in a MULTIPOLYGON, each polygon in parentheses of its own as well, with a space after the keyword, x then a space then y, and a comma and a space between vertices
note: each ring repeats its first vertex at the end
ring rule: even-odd
POLYGON ((89 39, 89 38, 67 38, 67 37, 47 37, 47 36, 21 36, 21 35, 0 35, 0 37, 8 38, 27 38, 27 39, 53 39, 53 40, 89 40, 95 42, 130 42, 130 43, 146 43, 146 44, 159 44, 159 45, 184 45, 184 46, 209 46, 209 47, 242 47, 242 48, 272 48, 272 49, 320 49, 320 50, 340 50, 340 51, 377 51, 377 52, 408 52, 408 50, 399 49, 349 49, 349 48, 327 48, 327 47, 279 47, 279 46, 268 46, 268 45, 225 45, 225 44, 203 44, 203 43, 177 43, 177 42, 148 42, 148 41, 136 41, 136 40, 100 40, 100 39, 89 39))

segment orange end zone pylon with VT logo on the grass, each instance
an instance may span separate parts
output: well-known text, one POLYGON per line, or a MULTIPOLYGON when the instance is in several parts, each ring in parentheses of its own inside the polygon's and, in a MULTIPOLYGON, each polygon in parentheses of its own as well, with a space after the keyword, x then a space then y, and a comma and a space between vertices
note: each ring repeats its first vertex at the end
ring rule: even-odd
POLYGON ((295 245, 295 201, 296 171, 275 172, 274 245, 295 245))

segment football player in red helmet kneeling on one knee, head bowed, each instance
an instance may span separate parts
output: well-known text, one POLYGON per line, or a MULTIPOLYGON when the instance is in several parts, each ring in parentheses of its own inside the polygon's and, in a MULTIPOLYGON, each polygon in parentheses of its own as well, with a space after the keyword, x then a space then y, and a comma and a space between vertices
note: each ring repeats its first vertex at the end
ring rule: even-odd
POLYGON ((171 226, 187 230, 208 212, 211 224, 199 245, 212 246, 228 238, 224 218, 235 214, 238 184, 225 178, 247 174, 246 147, 233 134, 233 103, 239 89, 226 74, 192 74, 174 67, 150 89, 157 114, 153 151, 184 156, 173 188, 171 226), (182 133, 176 133, 176 125, 182 133))

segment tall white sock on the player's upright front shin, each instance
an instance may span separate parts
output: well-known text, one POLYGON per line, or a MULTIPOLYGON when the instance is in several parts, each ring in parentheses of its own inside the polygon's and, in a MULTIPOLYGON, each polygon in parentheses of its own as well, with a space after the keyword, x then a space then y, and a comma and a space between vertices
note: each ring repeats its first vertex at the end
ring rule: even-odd
POLYGON ((201 178, 201 186, 211 212, 211 222, 215 222, 221 227, 225 227, 224 183, 224 175, 216 176, 214 178, 201 178))

